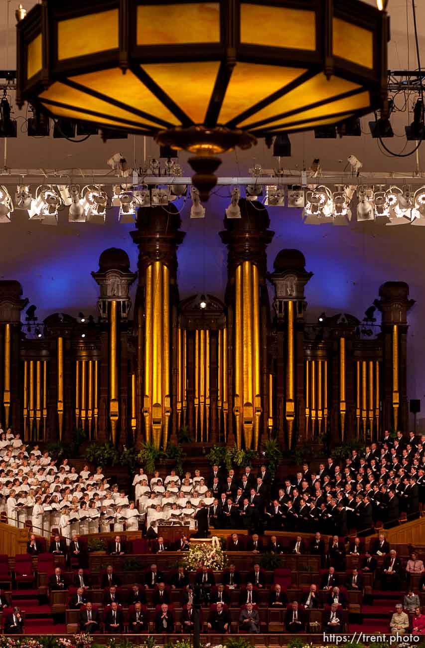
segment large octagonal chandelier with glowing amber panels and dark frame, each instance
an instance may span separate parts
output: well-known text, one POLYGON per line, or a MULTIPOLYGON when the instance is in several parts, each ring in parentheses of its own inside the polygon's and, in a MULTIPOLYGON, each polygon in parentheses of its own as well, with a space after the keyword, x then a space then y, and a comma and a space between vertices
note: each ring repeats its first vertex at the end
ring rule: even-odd
POLYGON ((205 189, 217 154, 380 108, 388 38, 360 0, 43 0, 17 101, 188 150, 205 189))

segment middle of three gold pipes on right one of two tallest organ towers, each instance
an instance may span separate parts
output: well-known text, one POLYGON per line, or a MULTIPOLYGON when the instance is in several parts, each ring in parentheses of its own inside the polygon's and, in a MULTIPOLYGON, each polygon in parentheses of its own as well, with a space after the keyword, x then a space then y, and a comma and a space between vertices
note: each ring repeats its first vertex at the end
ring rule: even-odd
POLYGON ((253 292, 252 292, 252 264, 244 261, 242 264, 242 385, 244 398, 241 402, 243 417, 245 447, 251 448, 254 423, 254 395, 253 395, 253 348, 252 348, 252 321, 253 321, 253 292))

